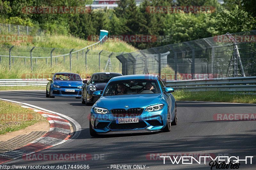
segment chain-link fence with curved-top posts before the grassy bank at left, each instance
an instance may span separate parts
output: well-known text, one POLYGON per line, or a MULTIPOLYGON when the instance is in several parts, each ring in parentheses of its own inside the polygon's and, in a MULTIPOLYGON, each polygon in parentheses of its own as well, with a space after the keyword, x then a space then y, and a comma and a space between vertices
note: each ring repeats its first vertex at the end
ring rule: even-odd
POLYGON ((19 75, 11 78, 22 78, 24 74, 49 75, 67 71, 86 78, 86 75, 94 72, 121 72, 121 63, 116 56, 122 53, 97 50, 103 39, 82 49, 0 45, 0 65, 2 70, 8 70, 8 74, 14 72, 19 75))

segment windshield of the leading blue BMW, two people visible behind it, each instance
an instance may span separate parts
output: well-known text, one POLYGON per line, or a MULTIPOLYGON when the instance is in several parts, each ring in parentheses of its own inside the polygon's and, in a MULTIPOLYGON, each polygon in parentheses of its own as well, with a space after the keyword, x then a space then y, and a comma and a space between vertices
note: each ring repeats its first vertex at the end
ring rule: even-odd
POLYGON ((156 80, 122 80, 110 82, 103 96, 114 96, 124 94, 147 94, 160 93, 156 80))

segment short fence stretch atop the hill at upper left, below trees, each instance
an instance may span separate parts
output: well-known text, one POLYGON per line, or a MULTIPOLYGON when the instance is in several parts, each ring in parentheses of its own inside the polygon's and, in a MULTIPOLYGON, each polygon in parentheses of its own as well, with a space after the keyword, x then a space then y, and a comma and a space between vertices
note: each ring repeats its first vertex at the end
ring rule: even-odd
POLYGON ((20 26, 12 24, 1 24, 0 23, 0 34, 1 35, 42 35, 45 31, 41 28, 30 27, 30 26, 20 26))

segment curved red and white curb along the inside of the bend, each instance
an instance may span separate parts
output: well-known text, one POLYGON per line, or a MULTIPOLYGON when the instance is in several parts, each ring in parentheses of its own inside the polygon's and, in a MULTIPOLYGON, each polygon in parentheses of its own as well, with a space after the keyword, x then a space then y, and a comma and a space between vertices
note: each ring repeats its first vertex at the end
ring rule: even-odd
POLYGON ((12 151, 0 153, 0 164, 20 158, 27 154, 38 152, 43 149, 62 144, 69 140, 70 137, 72 137, 73 135, 72 125, 66 119, 61 118, 59 115, 45 112, 42 110, 37 110, 28 106, 21 107, 32 109, 38 114, 45 117, 50 123, 50 129, 45 135, 36 139, 30 144, 14 149, 12 151))

